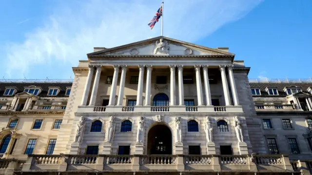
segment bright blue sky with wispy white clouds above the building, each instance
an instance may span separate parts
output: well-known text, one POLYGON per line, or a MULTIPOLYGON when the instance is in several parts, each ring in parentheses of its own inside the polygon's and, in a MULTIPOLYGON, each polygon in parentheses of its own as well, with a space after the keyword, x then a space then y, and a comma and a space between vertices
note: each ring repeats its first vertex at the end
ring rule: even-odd
MULTIPOLYGON (((68 79, 93 47, 160 34, 161 0, 10 0, 0 6, 0 78, 68 79)), ((312 0, 165 0, 164 35, 229 47, 249 78, 312 78, 312 0)))

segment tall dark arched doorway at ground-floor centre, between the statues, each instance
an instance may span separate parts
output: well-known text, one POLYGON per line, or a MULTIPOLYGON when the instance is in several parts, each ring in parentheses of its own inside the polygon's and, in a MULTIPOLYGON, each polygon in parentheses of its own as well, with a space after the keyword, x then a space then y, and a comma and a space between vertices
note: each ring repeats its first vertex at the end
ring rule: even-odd
POLYGON ((147 136, 148 155, 172 155, 172 133, 163 124, 153 126, 147 136))

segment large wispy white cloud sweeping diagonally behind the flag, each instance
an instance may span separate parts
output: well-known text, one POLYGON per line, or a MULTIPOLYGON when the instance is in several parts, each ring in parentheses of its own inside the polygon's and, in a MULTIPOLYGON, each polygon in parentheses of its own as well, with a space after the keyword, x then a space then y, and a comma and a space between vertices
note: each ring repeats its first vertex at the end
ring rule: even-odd
MULTIPOLYGON (((164 35, 194 42, 244 17, 261 1, 168 0, 164 35)), ((158 36, 160 22, 153 30, 147 23, 159 6, 160 1, 145 0, 61 1, 45 24, 26 34, 23 42, 7 43, 2 55, 7 62, 2 69, 11 78, 27 77, 35 67, 77 66, 93 47, 110 48, 158 36), (19 74, 14 74, 17 70, 19 74)))

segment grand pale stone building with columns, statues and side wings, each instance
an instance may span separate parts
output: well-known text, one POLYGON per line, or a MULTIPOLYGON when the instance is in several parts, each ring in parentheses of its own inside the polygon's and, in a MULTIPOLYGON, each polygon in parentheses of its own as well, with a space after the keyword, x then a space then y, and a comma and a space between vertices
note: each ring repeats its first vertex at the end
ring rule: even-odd
POLYGON ((0 173, 309 175, 312 81, 234 56, 159 36, 94 48, 72 82, 2 82, 0 173))

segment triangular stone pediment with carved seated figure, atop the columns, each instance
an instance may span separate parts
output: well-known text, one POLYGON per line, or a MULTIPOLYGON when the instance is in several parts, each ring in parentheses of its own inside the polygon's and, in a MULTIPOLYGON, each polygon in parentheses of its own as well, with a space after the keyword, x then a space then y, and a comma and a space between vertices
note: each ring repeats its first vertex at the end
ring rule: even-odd
POLYGON ((88 53, 88 57, 105 55, 223 55, 234 57, 235 55, 227 52, 227 48, 213 49, 164 36, 101 49, 88 53))

